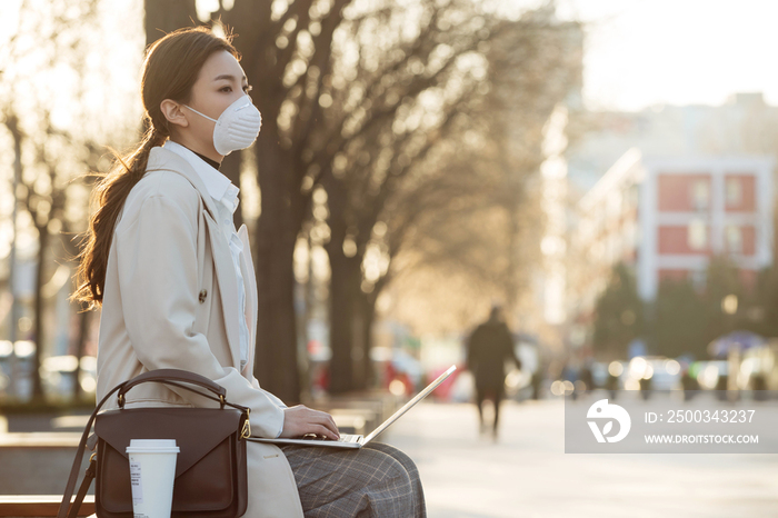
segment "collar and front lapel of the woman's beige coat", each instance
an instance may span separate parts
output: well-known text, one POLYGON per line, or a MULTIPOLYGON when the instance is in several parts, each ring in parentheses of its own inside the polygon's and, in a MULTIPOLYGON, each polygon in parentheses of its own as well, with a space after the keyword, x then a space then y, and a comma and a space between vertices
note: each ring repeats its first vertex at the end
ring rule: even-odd
MULTIPOLYGON (((219 293, 221 295, 221 309, 227 329, 227 341, 232 356, 232 365, 240 370, 240 331, 236 315, 240 313, 238 306, 238 277, 232 265, 230 247, 217 223, 216 202, 208 193, 206 185, 198 173, 183 158, 164 148, 151 148, 147 172, 153 170, 164 170, 179 173, 190 181, 202 199, 206 211, 205 220, 208 227, 208 237, 211 245, 211 255, 216 270, 219 293)), ((253 278, 253 276, 252 276, 253 278)), ((256 287, 255 287, 256 291, 256 287)), ((249 348, 251 349, 251 348, 249 348)))

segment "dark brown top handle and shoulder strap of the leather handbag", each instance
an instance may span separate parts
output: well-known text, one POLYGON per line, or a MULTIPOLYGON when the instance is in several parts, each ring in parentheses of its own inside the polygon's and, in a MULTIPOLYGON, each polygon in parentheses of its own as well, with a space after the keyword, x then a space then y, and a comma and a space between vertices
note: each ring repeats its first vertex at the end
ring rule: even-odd
MULTIPOLYGON (((83 454, 87 449, 87 440, 89 439, 89 432, 92 429, 92 425, 94 425, 94 419, 97 418, 98 411, 100 411, 100 408, 108 401, 108 398, 113 396, 113 394, 119 392, 119 406, 123 408, 123 400, 124 400, 124 395, 127 391, 143 382, 148 381, 153 381, 153 382, 159 382, 159 383, 164 383, 164 385, 173 385, 176 387, 180 387, 182 389, 197 392, 200 396, 203 396, 208 399, 212 399, 215 401, 219 401, 221 405, 221 408, 225 408, 225 405, 230 406, 232 408, 237 408, 239 410, 242 410, 247 414, 248 416, 248 408, 242 407, 240 405, 235 405, 225 399, 225 396, 227 395, 227 389, 221 387, 218 383, 215 383, 213 381, 209 380, 208 378, 196 375, 193 372, 188 372, 186 370, 178 370, 178 369, 158 369, 158 370, 150 370, 148 372, 143 372, 142 375, 139 375, 134 378, 132 378, 129 381, 124 381, 122 383, 117 385, 111 389, 110 392, 106 395, 106 397, 100 400, 100 402, 94 408, 94 411, 92 411, 92 415, 89 417, 89 421, 87 422, 87 427, 83 430, 83 434, 81 435, 81 440, 79 441, 78 449, 76 450, 76 459, 73 460, 73 466, 70 469, 70 476, 68 477, 68 485, 64 488, 64 494, 62 495, 62 502, 59 506, 59 511, 57 512, 57 518, 76 518, 79 509, 81 508, 81 502, 83 501, 83 497, 87 495, 87 491, 89 490, 89 486, 92 484, 92 479, 94 478, 96 475, 96 461, 94 461, 94 456, 92 455, 92 458, 89 460, 89 467, 87 468, 87 472, 84 474, 83 481, 81 482, 81 487, 79 488, 78 495, 76 496, 76 500, 73 500, 72 505, 70 502, 70 498, 73 495, 73 489, 76 489, 76 481, 78 480, 78 472, 79 468, 81 467, 81 459, 83 459, 83 454), (187 383, 192 383, 192 385, 198 385, 200 387, 203 387, 211 392, 217 394, 219 397, 216 398, 213 396, 202 394, 199 390, 196 390, 192 387, 189 387, 187 385, 183 385, 183 381, 187 383), (68 509, 70 509, 68 511, 68 509)), ((248 422, 248 417, 246 419, 246 422, 248 422)))

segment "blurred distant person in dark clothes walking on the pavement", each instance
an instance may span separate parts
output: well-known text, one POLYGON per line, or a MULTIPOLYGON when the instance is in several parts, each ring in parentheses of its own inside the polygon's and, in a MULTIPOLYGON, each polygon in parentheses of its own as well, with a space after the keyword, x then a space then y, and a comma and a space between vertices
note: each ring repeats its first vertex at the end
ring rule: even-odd
POLYGON ((505 361, 511 360, 521 369, 510 330, 500 313, 500 307, 493 306, 489 319, 476 328, 467 342, 467 365, 476 378, 476 404, 481 432, 487 429, 483 422, 483 401, 491 399, 495 401, 495 438, 500 418, 500 401, 505 397, 505 361))

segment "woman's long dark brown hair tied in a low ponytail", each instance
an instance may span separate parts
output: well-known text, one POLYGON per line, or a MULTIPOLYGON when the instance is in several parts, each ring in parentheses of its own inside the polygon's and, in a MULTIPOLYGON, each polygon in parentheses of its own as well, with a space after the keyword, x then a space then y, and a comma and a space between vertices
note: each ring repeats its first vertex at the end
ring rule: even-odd
POLYGON ((232 47, 232 34, 219 38, 205 27, 179 29, 149 46, 140 86, 143 126, 148 129, 134 150, 123 157, 116 156, 111 170, 92 191, 97 210, 89 220, 86 243, 79 253, 72 300, 86 302, 90 308, 102 303, 108 252, 117 217, 130 190, 146 173, 149 151, 164 143, 170 136, 160 103, 164 99, 189 102, 202 64, 213 52, 221 50, 240 60, 240 53, 232 47))

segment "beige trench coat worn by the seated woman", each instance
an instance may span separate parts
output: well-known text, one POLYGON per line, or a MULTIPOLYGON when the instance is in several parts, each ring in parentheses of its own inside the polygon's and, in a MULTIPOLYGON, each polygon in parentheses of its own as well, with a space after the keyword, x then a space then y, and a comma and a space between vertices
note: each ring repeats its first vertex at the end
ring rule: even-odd
MULTIPOLYGON (((211 197, 184 159, 152 148, 147 172, 132 188, 114 227, 106 272, 98 346, 98 399, 147 370, 200 373, 251 408, 255 436, 276 437, 283 404, 253 377, 253 348, 241 375, 237 276, 211 197)), ((257 336, 257 283, 246 226, 238 232, 246 260, 246 317, 257 336)), ((212 406, 181 389, 144 383, 128 406, 212 406)), ((116 402, 111 401, 114 406, 116 402)), ((109 407, 110 408, 110 407, 109 407)), ((197 432, 192 430, 192 432, 197 432)), ((245 516, 301 517, 295 476, 276 446, 248 445, 249 507, 245 516)))

